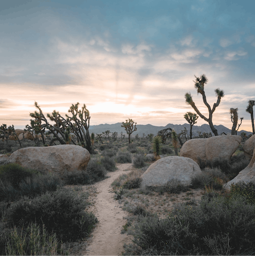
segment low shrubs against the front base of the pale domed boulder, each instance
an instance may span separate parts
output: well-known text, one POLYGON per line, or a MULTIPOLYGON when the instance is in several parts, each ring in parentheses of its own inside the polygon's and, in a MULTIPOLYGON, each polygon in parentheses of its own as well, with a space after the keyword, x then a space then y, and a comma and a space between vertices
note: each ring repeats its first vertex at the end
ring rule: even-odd
POLYGON ((180 194, 189 190, 189 187, 184 185, 179 179, 171 179, 164 186, 146 186, 146 188, 159 193, 168 192, 173 194, 180 194))

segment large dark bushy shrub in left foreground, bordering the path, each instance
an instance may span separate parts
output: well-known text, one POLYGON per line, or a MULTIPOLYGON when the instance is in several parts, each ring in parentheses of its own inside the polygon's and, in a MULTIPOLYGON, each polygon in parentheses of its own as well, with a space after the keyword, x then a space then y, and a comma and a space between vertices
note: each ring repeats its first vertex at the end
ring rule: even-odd
POLYGON ((28 227, 35 223, 56 233, 63 242, 75 241, 88 235, 97 218, 84 211, 88 203, 71 189, 58 189, 29 200, 24 197, 8 210, 8 223, 28 227))

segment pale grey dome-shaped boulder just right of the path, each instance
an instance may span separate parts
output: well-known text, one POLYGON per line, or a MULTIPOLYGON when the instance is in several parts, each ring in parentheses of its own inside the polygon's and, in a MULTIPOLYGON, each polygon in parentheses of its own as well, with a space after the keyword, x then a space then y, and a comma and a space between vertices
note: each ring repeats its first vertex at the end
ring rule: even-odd
POLYGON ((190 158, 166 156, 152 163, 141 176, 141 188, 146 186, 164 186, 171 179, 179 179, 184 185, 190 185, 193 175, 201 173, 200 167, 190 158))

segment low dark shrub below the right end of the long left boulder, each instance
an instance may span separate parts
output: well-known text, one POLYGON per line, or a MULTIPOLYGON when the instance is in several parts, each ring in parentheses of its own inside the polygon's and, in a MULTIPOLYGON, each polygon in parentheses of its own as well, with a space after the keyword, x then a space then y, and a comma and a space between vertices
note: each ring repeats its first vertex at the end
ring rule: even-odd
POLYGON ((68 171, 62 175, 62 179, 66 185, 86 185, 94 183, 93 177, 86 171, 68 171))

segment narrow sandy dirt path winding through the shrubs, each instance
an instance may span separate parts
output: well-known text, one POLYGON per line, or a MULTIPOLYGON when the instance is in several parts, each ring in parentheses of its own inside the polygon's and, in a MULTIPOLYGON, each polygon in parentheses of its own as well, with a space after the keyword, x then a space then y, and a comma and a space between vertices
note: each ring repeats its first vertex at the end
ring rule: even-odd
POLYGON ((95 185, 97 197, 94 214, 98 218, 98 224, 92 232, 92 239, 88 243, 84 256, 118 256, 124 249, 123 244, 131 242, 132 237, 121 234, 123 225, 126 224, 123 217, 127 213, 122 210, 121 205, 114 200, 114 193, 111 193, 111 184, 122 174, 127 174, 132 170, 132 163, 117 164, 115 172, 108 172, 105 180, 95 185), (127 171, 128 170, 128 171, 127 171))

